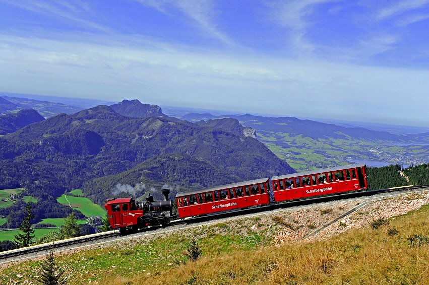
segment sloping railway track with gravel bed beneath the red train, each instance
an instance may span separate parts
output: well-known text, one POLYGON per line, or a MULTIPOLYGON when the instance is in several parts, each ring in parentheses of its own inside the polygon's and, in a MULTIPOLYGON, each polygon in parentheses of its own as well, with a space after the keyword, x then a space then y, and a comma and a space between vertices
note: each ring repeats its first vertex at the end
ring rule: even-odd
MULTIPOLYGON (((241 209, 241 210, 233 210, 228 211, 224 213, 217 213, 216 215, 207 215, 202 217, 196 217, 196 218, 190 218, 186 220, 176 220, 172 221, 170 223, 169 229, 165 230, 161 227, 153 227, 151 229, 146 229, 143 232, 139 232, 137 234, 133 235, 119 235, 118 231, 110 231, 105 233, 98 233, 93 235, 87 235, 72 239, 66 239, 61 241, 56 241, 54 243, 46 243, 41 245, 35 245, 30 246, 26 248, 20 248, 15 250, 9 250, 0 252, 0 266, 2 264, 21 260, 21 259, 27 259, 32 257, 37 257, 41 255, 45 255, 48 253, 48 251, 53 248, 55 251, 64 251, 79 247, 85 247, 90 246, 94 244, 100 244, 100 243, 106 243, 106 242, 112 242, 115 240, 125 239, 125 238, 131 238, 134 236, 139 235, 147 235, 151 233, 157 233, 160 231, 175 231, 177 229, 186 228, 187 225, 190 224, 198 224, 198 223, 205 223, 213 220, 218 219, 225 219, 225 218, 233 218, 243 215, 252 215, 257 214, 260 212, 267 212, 267 211, 275 211, 275 210, 281 210, 282 208, 287 207, 299 207, 299 206, 306 206, 310 204, 317 204, 317 203, 324 203, 324 202, 332 202, 332 201, 340 201, 345 199, 353 199, 353 198, 359 198, 359 197, 371 197, 371 196, 377 196, 377 199, 380 199, 385 196, 392 196, 392 195, 402 195, 412 192, 419 192, 428 190, 429 185, 420 185, 420 186, 406 186, 406 187, 396 187, 396 188, 389 188, 389 189, 380 189, 380 190, 373 190, 373 191, 363 191, 363 192, 353 192, 353 193, 344 193, 340 195, 332 195, 332 196, 323 196, 319 198, 312 198, 312 199, 303 199, 298 201, 289 201, 289 202, 283 202, 283 203, 276 203, 276 204, 270 204, 269 206, 261 206, 261 207, 252 207, 249 209, 241 209), (155 231, 154 231, 155 230, 155 231)), ((369 201, 371 202, 371 201, 369 201)), ((367 203, 365 202, 365 205, 367 203)), ((363 204, 351 209, 350 211, 346 212, 344 215, 339 217, 338 219, 341 219, 347 215, 349 215, 351 212, 355 211, 356 209, 364 206, 363 204)), ((261 214, 262 215, 262 214, 261 214)), ((338 220, 336 219, 336 220, 338 220)), ((317 229, 315 232, 313 232, 311 235, 316 234, 317 232, 321 231, 323 229, 317 229)))

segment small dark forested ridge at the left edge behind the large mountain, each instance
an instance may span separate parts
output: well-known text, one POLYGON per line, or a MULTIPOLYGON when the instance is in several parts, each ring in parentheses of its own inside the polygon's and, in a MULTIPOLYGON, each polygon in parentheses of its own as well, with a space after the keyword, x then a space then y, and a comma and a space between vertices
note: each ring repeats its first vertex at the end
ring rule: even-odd
POLYGON ((14 114, 0 116, 0 134, 7 134, 17 131, 29 124, 43 121, 43 118, 36 110, 25 109, 14 114))

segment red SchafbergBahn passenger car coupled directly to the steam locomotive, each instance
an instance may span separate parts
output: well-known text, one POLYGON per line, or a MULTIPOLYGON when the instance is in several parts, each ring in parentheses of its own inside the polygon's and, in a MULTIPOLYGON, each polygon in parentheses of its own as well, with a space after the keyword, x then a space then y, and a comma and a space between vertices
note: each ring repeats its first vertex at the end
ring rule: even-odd
POLYGON ((268 204, 268 178, 215 187, 178 192, 177 209, 180 218, 230 209, 268 204))

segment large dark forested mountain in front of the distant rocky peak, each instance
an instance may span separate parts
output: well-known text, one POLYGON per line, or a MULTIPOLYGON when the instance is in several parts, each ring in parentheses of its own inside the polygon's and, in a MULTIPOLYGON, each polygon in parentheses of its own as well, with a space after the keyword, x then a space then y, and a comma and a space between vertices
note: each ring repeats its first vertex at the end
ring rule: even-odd
MULTIPOLYGON (((294 172, 252 137, 160 116, 124 116, 105 105, 59 114, 7 134, 0 138, 0 155, 0 189, 25 187, 23 194, 39 200, 82 188, 102 203, 115 186, 106 181, 195 189, 294 172), (140 175, 133 182, 127 171, 140 175), (93 184, 97 178, 101 180, 93 184), (104 191, 95 193, 94 185, 104 191)), ((14 220, 9 216, 8 224, 15 225, 14 220)))

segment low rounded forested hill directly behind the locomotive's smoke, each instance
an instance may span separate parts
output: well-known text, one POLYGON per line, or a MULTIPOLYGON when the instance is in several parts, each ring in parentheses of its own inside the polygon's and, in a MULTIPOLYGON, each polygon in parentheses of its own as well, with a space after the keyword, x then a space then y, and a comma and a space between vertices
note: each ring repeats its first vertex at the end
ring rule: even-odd
POLYGON ((125 172, 84 182, 88 197, 102 203, 105 197, 138 197, 149 192, 162 199, 160 189, 169 188, 170 197, 179 191, 227 184, 240 178, 215 164, 186 154, 150 158, 125 172), (121 191, 121 189, 124 189, 121 191))

